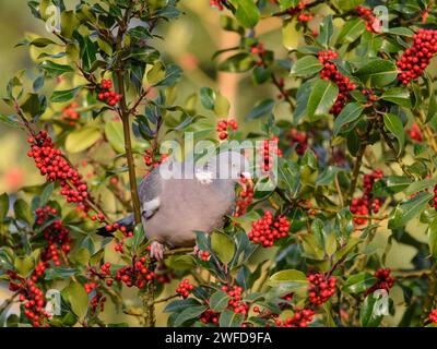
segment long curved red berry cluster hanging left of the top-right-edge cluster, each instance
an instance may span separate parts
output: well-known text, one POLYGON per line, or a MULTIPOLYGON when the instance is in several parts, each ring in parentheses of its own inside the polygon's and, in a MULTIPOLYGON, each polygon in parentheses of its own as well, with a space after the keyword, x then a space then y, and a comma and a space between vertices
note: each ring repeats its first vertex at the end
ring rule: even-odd
POLYGON ((320 77, 332 81, 336 86, 339 86, 339 96, 330 110, 332 115, 338 116, 350 98, 350 92, 355 89, 356 85, 351 83, 349 76, 344 76, 340 73, 334 63, 330 62, 330 60, 339 58, 336 52, 332 50, 320 51, 318 58, 320 63, 323 64, 323 69, 319 72, 320 77))

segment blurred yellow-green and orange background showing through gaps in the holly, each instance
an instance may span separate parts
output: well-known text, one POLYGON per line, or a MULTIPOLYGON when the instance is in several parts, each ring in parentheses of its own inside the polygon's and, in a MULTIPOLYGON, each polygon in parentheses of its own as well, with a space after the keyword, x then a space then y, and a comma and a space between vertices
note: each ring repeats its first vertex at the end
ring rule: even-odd
MULTIPOLYGON (((74 0, 66 1, 68 7, 74 4, 74 0)), ((166 56, 167 61, 178 63, 185 71, 184 79, 178 85, 178 91, 182 97, 188 97, 192 93, 197 93, 202 86, 218 88, 225 95, 231 105, 231 117, 237 119, 243 125, 244 131, 252 128, 259 128, 261 121, 252 121, 250 124, 244 122, 245 115, 253 107, 257 100, 268 96, 275 96, 275 89, 270 85, 253 86, 250 74, 228 74, 217 73, 215 70, 216 61, 212 60, 212 55, 223 48, 238 45, 238 36, 233 33, 223 32, 220 27, 220 13, 215 9, 210 8, 209 0, 182 0, 181 5, 186 12, 179 20, 172 24, 165 24, 162 28, 166 37, 165 41, 158 41, 160 49, 166 56)), ((275 50, 277 57, 285 57, 286 51, 282 46, 281 21, 277 19, 262 21, 257 26, 257 34, 268 49, 275 50)), ((0 94, 5 93, 5 85, 11 76, 23 69, 33 69, 28 50, 25 47, 14 48, 17 41, 22 39, 26 33, 37 33, 47 35, 43 22, 35 20, 28 8, 26 0, 1 0, 0 1, 0 94)), ((286 84, 292 84, 290 80, 286 84)), ((9 107, 0 103, 0 112, 10 115, 9 107)), ((279 105, 275 116, 290 118, 290 110, 284 105, 279 105)), ((36 171, 33 161, 26 156, 27 144, 26 135, 0 125, 0 193, 13 193, 23 185, 35 185, 44 182, 44 178, 36 171)), ((412 221, 411 225, 417 222, 412 221)), ((426 242, 424 227, 415 227, 413 234, 421 241, 426 242)), ((376 248, 382 254, 389 230, 378 230, 376 248)), ((270 257, 272 251, 264 251, 263 256, 258 255, 258 260, 262 261, 267 253, 270 257)), ((415 254, 413 248, 399 245, 393 242, 393 246, 388 255, 387 266, 393 268, 412 267, 411 258, 415 254)), ((173 285, 174 286, 174 285, 173 285)), ((170 286, 169 288, 172 288, 170 286)), ((0 289, 0 300, 5 298, 5 290, 0 289)), ((399 287, 393 289, 395 303, 403 309, 403 297, 399 287)), ((111 309, 108 304, 107 309, 111 309)), ((160 314, 162 305, 158 306, 158 325, 165 325, 166 316, 160 314)), ((106 315, 113 317, 114 314, 106 312, 106 315)), ((402 312, 398 312, 395 321, 399 321, 402 312)), ((127 321, 128 318, 118 317, 117 322, 127 321)), ((392 320, 394 324, 394 320, 392 320)), ((389 323, 391 323, 389 321, 389 323)), ((133 322, 134 324, 134 322, 133 322)))

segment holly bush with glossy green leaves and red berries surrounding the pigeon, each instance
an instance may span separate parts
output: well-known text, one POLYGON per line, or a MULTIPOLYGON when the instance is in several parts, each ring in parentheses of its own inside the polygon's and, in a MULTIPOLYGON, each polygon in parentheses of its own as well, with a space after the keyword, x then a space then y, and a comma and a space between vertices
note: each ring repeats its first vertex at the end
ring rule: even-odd
POLYGON ((27 2, 50 33, 17 44, 35 65, 9 82, 1 121, 46 183, 0 197, 3 325, 154 326, 161 306, 168 326, 435 326, 434 1, 212 0, 238 41, 206 73, 262 91, 239 117, 224 91, 177 88, 162 27, 184 1, 27 2), (283 45, 259 34, 268 21, 283 45), (224 228, 157 262, 137 181, 186 132, 264 141, 277 185, 241 178, 224 228))

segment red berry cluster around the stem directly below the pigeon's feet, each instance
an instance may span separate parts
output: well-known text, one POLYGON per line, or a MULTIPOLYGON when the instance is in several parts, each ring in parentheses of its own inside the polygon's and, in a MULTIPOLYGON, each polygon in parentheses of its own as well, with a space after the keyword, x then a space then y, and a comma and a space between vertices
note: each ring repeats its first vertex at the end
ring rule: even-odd
POLYGON ((122 281, 126 286, 137 286, 143 289, 155 276, 155 272, 147 268, 147 258, 142 256, 132 265, 121 267, 116 274, 116 280, 122 281))

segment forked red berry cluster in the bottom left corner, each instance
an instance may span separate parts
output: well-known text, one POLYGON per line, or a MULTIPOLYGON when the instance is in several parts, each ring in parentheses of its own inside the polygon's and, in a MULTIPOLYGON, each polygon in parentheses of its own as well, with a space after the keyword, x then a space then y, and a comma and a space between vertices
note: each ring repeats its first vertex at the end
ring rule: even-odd
POLYGON ((13 270, 8 270, 7 274, 11 278, 9 289, 13 292, 19 292, 20 302, 24 304, 24 315, 31 321, 34 327, 48 327, 50 314, 45 310, 46 299, 44 292, 35 281, 44 274, 47 265, 39 262, 29 279, 19 276, 13 270))

